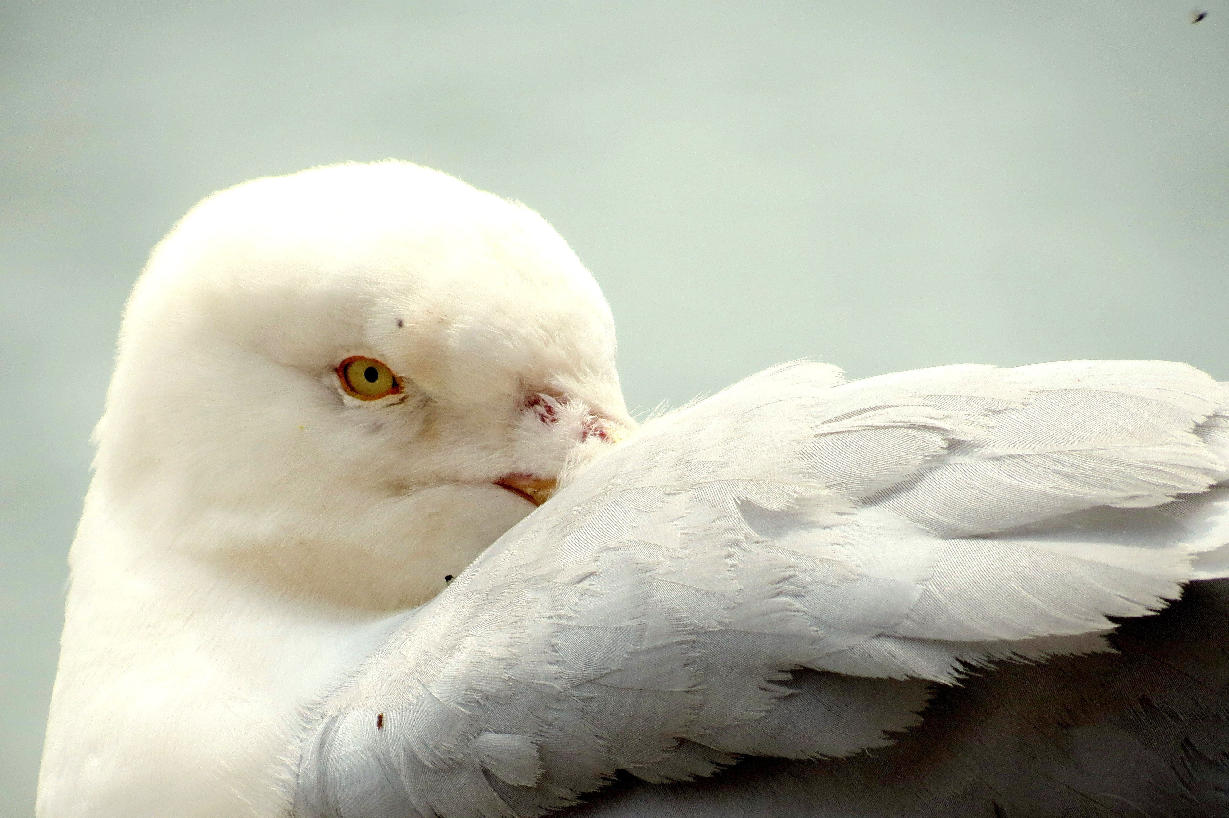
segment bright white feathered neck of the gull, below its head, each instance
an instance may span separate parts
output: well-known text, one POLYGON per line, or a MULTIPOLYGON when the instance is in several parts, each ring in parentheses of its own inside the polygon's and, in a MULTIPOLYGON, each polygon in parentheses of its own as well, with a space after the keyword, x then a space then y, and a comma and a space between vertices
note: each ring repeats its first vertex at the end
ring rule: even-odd
POLYGON ((245 582, 100 500, 70 558, 39 814, 286 814, 312 704, 387 615, 245 582))

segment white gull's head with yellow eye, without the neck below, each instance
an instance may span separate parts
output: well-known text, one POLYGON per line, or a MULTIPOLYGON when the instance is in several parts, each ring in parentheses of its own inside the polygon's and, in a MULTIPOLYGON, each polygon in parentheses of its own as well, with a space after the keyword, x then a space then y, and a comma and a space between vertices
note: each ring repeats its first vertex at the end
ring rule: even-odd
POLYGON ((323 167, 155 248, 87 506, 226 581, 392 609, 633 427, 610 310, 544 220, 403 162, 323 167))

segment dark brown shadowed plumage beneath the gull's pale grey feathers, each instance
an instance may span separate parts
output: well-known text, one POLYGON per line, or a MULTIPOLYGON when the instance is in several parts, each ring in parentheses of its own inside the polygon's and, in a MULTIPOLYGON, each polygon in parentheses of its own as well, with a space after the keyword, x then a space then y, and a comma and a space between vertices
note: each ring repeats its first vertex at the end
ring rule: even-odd
MULTIPOLYGON (((941 689, 906 741, 720 776, 626 777, 565 818, 1219 818, 1229 814, 1229 581, 1128 620, 1117 653, 1007 663, 941 689)), ((775 710, 774 710, 775 712, 775 710)))

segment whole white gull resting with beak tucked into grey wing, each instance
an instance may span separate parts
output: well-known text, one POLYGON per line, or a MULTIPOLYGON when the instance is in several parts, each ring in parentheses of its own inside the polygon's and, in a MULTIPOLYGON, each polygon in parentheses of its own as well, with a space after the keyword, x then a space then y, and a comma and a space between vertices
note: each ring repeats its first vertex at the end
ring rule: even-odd
POLYGON ((1186 365, 791 364, 638 427, 541 217, 344 165, 159 244, 96 441, 42 818, 1229 808, 1186 365))

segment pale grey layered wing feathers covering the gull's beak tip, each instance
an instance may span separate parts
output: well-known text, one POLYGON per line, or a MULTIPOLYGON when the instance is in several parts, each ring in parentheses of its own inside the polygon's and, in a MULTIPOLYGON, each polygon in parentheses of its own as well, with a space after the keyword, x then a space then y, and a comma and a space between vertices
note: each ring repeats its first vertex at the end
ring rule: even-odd
POLYGON ((748 378, 407 614, 321 703, 299 814, 528 816, 621 770, 849 755, 925 680, 1107 650, 1109 617, 1227 561, 1224 403, 1164 362, 748 378))

